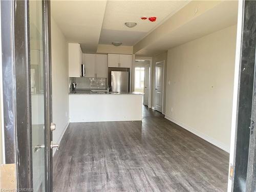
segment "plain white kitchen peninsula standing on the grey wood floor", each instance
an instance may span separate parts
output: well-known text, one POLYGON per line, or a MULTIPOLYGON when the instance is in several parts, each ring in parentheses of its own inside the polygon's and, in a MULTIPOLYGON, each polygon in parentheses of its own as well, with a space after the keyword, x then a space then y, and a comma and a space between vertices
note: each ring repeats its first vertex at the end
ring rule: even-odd
POLYGON ((70 122, 142 120, 141 93, 70 94, 70 122))

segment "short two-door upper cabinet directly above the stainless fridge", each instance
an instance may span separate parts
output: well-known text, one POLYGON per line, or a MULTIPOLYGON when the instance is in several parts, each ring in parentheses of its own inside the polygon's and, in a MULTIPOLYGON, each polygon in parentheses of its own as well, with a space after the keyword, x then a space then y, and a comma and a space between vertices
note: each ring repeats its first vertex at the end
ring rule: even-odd
POLYGON ((132 55, 125 54, 108 54, 109 67, 131 68, 132 55))

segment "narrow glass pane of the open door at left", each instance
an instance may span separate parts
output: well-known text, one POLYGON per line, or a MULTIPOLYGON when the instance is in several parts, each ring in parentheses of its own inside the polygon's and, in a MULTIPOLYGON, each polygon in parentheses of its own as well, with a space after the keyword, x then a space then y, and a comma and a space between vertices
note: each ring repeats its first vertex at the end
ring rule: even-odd
POLYGON ((34 191, 45 191, 45 97, 42 2, 29 1, 32 169, 34 191))

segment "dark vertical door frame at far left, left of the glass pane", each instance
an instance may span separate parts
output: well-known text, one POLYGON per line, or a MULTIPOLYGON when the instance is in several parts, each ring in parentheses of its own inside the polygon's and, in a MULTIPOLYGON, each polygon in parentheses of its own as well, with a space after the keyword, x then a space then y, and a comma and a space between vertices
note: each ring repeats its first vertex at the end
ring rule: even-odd
POLYGON ((32 188, 27 24, 28 2, 1 2, 5 163, 15 164, 17 189, 32 188))

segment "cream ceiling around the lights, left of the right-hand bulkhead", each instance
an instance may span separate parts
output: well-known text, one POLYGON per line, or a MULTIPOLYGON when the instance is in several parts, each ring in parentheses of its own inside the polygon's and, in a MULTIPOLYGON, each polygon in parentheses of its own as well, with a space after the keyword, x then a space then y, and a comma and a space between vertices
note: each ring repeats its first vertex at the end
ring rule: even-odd
POLYGON ((51 14, 69 42, 83 52, 96 52, 98 44, 121 41, 133 46, 188 1, 51 1, 51 14), (156 22, 141 20, 156 16, 156 22), (128 28, 125 22, 136 22, 128 28))

